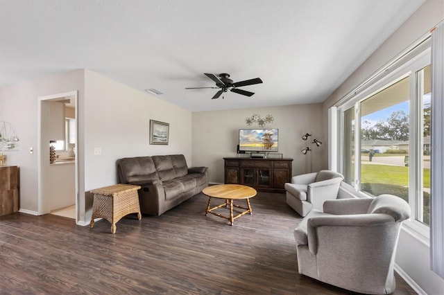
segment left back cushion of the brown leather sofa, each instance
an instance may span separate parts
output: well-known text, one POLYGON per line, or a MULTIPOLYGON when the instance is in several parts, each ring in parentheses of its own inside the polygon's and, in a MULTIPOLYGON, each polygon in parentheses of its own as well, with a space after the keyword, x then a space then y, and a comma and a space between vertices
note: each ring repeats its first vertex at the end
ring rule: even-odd
POLYGON ((153 159, 151 157, 123 158, 117 162, 120 181, 149 183, 159 179, 153 159))

